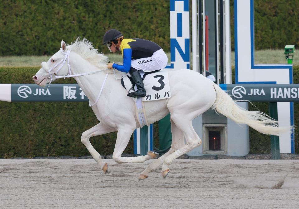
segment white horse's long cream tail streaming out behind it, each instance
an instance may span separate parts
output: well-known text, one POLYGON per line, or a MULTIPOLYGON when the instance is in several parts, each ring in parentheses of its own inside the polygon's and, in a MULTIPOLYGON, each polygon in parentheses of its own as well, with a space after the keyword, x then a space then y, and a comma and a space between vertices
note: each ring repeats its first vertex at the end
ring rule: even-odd
POLYGON ((225 115, 236 123, 244 123, 258 132, 271 135, 279 135, 279 132, 290 131, 294 127, 282 128, 278 121, 258 111, 248 111, 239 107, 235 101, 225 93, 217 84, 213 83, 216 91, 216 100, 212 108, 225 115))

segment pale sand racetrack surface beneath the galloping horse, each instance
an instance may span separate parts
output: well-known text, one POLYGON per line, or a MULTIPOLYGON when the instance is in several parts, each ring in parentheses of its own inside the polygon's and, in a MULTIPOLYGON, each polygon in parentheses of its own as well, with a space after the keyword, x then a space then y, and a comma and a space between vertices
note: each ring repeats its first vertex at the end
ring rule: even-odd
POLYGON ((138 176, 143 164, 94 160, 0 160, 0 208, 299 208, 299 160, 175 160, 138 176))

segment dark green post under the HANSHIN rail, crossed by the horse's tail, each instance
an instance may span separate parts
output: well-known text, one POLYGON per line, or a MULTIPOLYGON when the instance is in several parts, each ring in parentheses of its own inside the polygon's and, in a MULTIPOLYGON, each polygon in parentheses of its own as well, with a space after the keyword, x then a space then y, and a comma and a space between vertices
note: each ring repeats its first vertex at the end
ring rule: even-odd
MULTIPOLYGON (((278 120, 277 102, 269 102, 270 117, 278 120)), ((279 137, 271 135, 271 154, 273 160, 280 159, 279 137)))

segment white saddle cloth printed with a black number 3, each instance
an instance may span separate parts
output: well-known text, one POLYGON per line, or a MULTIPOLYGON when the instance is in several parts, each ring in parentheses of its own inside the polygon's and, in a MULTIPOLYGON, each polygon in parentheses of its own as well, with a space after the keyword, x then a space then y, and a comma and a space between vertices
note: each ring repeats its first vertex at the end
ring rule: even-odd
MULTIPOLYGON (((129 77, 123 78, 123 83, 127 91, 132 87, 129 77)), ((168 72, 155 72, 147 74, 143 80, 146 95, 142 101, 153 101, 171 98, 171 91, 168 80, 168 72)), ((136 90, 136 86, 135 86, 136 90)))

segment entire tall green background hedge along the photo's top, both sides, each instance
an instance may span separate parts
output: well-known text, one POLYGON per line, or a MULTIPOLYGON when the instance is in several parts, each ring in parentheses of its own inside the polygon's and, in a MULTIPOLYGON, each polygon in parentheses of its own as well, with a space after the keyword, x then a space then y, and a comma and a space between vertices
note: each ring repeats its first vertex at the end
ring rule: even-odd
MULTIPOLYGON (((78 35, 108 53, 102 37, 110 28, 121 30, 125 37, 150 39, 170 51, 169 1, 2 0, 0 55, 52 55, 61 39, 70 44, 78 35)), ((230 5, 234 50, 234 0, 230 5)), ((299 1, 255 0, 255 49, 298 46, 298 7, 299 1)))

